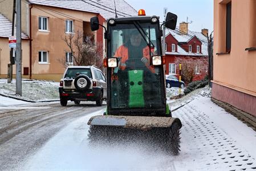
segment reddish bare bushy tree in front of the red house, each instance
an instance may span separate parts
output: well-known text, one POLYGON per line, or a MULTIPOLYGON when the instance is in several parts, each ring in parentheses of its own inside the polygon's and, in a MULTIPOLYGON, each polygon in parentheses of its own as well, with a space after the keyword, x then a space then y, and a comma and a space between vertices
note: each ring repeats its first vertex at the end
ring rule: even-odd
POLYGON ((190 83, 193 81, 194 75, 197 72, 196 69, 200 72, 206 71, 207 65, 204 64, 205 62, 207 62, 207 60, 205 61, 199 58, 192 57, 182 57, 176 58, 174 60, 176 66, 178 66, 178 64, 181 64, 181 75, 185 83, 190 83))

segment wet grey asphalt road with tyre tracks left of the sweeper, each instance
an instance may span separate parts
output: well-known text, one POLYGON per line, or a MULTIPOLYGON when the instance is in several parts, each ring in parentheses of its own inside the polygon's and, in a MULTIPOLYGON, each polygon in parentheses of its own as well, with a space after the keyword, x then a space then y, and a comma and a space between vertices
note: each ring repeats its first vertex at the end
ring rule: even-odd
POLYGON ((0 170, 15 170, 68 123, 103 108, 105 105, 96 107, 93 102, 68 102, 67 107, 56 102, 1 107, 0 170))

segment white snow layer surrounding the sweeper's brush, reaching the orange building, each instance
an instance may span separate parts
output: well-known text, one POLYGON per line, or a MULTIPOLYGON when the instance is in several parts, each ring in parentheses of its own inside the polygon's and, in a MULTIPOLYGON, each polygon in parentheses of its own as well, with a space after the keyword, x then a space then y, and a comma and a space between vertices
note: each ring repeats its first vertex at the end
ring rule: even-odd
POLYGON ((70 123, 20 170, 256 170, 256 133, 210 101, 198 97, 173 112, 182 121, 181 153, 166 156, 131 145, 92 150, 87 121, 70 123))

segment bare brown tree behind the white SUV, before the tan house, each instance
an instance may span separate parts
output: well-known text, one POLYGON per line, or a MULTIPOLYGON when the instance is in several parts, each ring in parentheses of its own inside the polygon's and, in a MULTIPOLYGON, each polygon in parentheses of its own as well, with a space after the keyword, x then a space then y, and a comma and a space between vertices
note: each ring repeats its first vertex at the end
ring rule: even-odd
MULTIPOLYGON (((72 54, 72 60, 74 66, 97 66, 103 67, 103 46, 102 43, 94 43, 94 35, 85 35, 81 31, 75 32, 75 34, 67 34, 64 32, 62 40, 66 42, 69 51, 72 54), (84 38, 84 40, 83 40, 84 38)), ((67 67, 66 56, 59 59, 59 62, 67 67)))

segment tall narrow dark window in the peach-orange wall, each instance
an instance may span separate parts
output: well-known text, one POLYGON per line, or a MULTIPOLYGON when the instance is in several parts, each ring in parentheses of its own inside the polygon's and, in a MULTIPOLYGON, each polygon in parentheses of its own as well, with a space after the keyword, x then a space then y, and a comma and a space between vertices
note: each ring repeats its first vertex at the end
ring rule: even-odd
POLYGON ((231 50, 231 2, 226 4, 226 52, 231 50))

